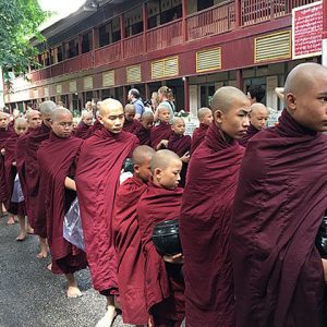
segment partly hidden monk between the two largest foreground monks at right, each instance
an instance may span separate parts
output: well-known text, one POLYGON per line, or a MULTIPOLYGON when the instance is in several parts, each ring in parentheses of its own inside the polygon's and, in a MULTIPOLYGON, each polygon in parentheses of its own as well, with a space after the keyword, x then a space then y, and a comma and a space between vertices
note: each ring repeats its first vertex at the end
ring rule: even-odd
POLYGON ((250 126, 246 135, 239 143, 246 147, 249 140, 266 128, 269 118, 269 110, 263 104, 255 102, 250 107, 250 126))

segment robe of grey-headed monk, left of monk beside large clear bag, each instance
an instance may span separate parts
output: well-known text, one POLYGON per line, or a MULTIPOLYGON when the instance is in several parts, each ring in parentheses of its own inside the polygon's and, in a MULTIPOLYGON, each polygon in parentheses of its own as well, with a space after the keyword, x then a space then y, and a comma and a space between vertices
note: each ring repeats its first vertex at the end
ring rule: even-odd
POLYGON ((49 138, 50 129, 44 123, 31 131, 26 141, 26 184, 28 199, 28 220, 34 229, 34 233, 41 238, 47 237, 46 206, 45 206, 45 184, 39 183, 39 166, 36 152, 41 142, 49 138))

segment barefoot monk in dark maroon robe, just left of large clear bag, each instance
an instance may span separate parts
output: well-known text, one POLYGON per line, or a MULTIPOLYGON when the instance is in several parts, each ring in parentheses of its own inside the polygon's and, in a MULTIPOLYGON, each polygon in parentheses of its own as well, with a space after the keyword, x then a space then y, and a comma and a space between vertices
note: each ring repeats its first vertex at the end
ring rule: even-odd
POLYGON ((83 140, 72 136, 73 116, 70 110, 57 108, 51 114, 49 140, 37 150, 40 184, 45 186, 47 238, 52 257, 53 274, 64 274, 68 298, 82 293, 74 272, 86 267, 86 255, 63 238, 64 215, 76 197, 74 160, 83 140))

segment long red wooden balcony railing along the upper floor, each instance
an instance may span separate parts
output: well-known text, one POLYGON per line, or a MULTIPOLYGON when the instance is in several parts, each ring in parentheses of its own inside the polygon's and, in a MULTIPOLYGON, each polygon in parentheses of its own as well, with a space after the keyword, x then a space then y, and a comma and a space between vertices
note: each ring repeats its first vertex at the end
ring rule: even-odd
POLYGON ((133 35, 121 41, 32 72, 29 78, 36 82, 62 74, 75 73, 81 70, 118 62, 125 58, 133 58, 145 55, 146 52, 227 33, 239 27, 237 22, 237 8, 239 10, 240 27, 244 27, 289 15, 293 8, 316 1, 317 0, 241 0, 239 7, 237 7, 237 1, 228 0, 191 14, 184 20, 179 19, 169 22, 148 29, 145 33, 133 35), (183 26, 183 24, 185 24, 185 26, 183 26), (183 29, 183 27, 185 27, 185 29, 183 29), (183 31, 186 31, 186 35, 184 35, 183 31))

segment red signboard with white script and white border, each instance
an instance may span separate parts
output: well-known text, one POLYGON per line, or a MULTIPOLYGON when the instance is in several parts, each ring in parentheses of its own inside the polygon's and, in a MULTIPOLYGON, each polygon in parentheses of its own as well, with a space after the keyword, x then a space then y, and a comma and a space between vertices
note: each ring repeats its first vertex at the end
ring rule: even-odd
POLYGON ((322 55, 323 1, 292 11, 293 59, 322 55))

